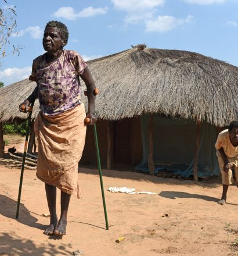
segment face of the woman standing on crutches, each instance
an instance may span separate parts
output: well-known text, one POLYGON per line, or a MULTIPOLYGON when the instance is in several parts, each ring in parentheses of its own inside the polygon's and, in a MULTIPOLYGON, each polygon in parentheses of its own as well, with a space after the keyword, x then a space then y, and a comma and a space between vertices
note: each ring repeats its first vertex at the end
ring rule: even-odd
POLYGON ((46 27, 42 41, 46 52, 50 54, 56 53, 62 46, 66 45, 64 41, 56 27, 46 27))

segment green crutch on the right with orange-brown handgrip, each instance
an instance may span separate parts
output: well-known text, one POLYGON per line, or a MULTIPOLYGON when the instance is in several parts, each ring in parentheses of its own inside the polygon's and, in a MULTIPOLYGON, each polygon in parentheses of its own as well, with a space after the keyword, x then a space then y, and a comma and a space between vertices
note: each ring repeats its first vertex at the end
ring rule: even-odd
MULTIPOLYGON (((94 90, 95 94, 98 94, 98 88, 94 90)), ((86 91, 84 92, 86 95, 86 91)), ((85 118, 84 122, 86 124, 90 123, 89 118, 85 118)), ((107 208, 106 208, 106 201, 105 201, 105 195, 104 195, 104 189, 103 189, 103 176, 102 176, 102 168, 101 168, 101 161, 100 161, 100 154, 99 154, 99 147, 98 147, 98 134, 96 129, 96 123, 93 124, 93 134, 95 139, 95 147, 96 147, 96 155, 97 155, 97 161, 98 161, 98 170, 99 170, 99 177, 100 177, 100 185, 101 185, 101 191, 102 191, 102 198, 103 198, 103 209, 104 209, 104 216, 105 216, 105 222, 106 222, 106 229, 109 230, 109 224, 107 220, 107 208)))

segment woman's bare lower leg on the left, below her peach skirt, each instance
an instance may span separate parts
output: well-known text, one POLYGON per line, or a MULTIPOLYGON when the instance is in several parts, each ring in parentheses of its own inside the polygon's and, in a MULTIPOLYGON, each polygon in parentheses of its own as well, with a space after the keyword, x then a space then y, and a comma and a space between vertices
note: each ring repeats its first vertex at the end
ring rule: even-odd
POLYGON ((45 183, 45 192, 49 207, 49 213, 51 214, 51 222, 49 226, 45 229, 44 234, 50 235, 53 234, 58 224, 58 219, 56 215, 56 187, 45 183))

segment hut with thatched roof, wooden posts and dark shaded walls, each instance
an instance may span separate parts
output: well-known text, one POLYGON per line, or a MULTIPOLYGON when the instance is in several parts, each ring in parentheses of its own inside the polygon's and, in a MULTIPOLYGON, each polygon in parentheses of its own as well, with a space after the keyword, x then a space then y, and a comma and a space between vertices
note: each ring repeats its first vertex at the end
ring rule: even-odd
MULTIPOLYGON (((194 52, 145 45, 89 61, 88 66, 100 90, 96 115, 107 168, 113 162, 135 166, 142 159, 139 168, 150 173, 154 162, 163 163, 161 168, 165 163, 190 166, 195 180, 198 167, 215 173, 215 163, 203 162, 215 161, 216 127, 238 118, 238 67, 194 52)), ((26 118, 18 106, 34 87, 34 82, 23 80, 2 88, 0 120, 26 118)), ((82 101, 86 105, 86 99, 82 101)), ((33 116, 37 112, 38 102, 33 116)), ((94 154, 91 135, 89 128, 83 162, 94 154)))

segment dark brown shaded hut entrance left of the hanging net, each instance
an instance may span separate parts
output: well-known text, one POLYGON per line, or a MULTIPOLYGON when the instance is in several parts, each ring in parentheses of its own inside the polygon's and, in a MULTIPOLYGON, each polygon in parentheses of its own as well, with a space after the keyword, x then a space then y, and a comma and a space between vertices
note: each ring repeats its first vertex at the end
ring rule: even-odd
MULTIPOLYGON (((143 148, 139 117, 118 121, 99 120, 96 125, 103 168, 106 168, 109 158, 109 169, 132 169, 140 163, 143 148), (112 128, 110 133, 107 131, 109 127, 112 128)), ((97 163, 92 126, 87 127, 85 147, 80 163, 94 166, 97 163)))

